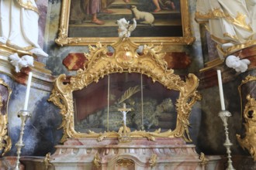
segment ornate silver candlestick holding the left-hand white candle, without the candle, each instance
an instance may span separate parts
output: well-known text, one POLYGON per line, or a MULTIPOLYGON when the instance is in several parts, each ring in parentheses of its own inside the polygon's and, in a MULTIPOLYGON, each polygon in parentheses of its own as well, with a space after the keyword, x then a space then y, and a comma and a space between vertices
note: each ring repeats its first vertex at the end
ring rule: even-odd
POLYGON ((15 170, 19 170, 19 158, 20 158, 20 154, 21 154, 21 149, 25 146, 22 138, 23 138, 23 134, 24 134, 24 128, 26 125, 26 121, 29 117, 31 117, 31 114, 29 113, 28 110, 20 110, 18 113, 18 117, 21 118, 21 128, 20 128, 20 133, 19 133, 19 141, 16 143, 16 148, 17 148, 17 161, 16 161, 16 166, 15 166, 15 170))

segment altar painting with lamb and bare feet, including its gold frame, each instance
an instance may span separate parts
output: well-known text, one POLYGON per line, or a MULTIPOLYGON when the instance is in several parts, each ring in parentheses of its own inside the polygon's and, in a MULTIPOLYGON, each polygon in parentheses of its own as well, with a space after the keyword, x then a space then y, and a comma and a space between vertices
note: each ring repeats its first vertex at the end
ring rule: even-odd
POLYGON ((118 39, 117 20, 126 19, 137 29, 131 35, 135 42, 190 44, 187 0, 64 0, 61 24, 56 42, 63 45, 86 45, 92 42, 112 43, 118 39), (91 3, 91 2, 90 2, 91 3), (156 4, 157 3, 157 4, 156 4), (158 7, 157 7, 158 6, 158 7), (144 16, 137 18, 137 12, 144 16))

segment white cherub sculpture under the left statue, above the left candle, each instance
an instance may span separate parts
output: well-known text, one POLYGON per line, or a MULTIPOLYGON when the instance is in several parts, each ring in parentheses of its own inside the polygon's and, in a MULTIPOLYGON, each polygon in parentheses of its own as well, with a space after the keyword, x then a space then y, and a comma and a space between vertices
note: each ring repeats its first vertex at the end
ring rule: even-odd
POLYGON ((25 55, 20 58, 17 53, 10 55, 9 59, 12 66, 15 66, 16 73, 19 73, 23 67, 33 66, 34 62, 33 56, 25 55))

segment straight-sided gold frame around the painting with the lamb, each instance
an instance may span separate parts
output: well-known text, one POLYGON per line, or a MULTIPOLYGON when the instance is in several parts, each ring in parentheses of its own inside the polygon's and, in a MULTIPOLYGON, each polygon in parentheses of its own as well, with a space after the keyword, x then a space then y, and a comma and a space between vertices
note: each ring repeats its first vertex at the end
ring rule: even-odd
MULTIPOLYGON (((156 45, 164 43, 164 45, 190 45, 195 41, 192 36, 189 20, 189 0, 180 0, 180 10, 182 14, 182 36, 174 37, 132 37, 133 42, 145 44, 152 42, 156 45)), ((63 0, 61 5, 61 19, 59 23, 59 31, 55 42, 60 46, 85 46, 97 42, 110 44, 118 41, 118 32, 116 37, 69 37, 68 26, 70 16, 71 0, 63 0)), ((170 30, 171 31, 171 30, 170 30)))

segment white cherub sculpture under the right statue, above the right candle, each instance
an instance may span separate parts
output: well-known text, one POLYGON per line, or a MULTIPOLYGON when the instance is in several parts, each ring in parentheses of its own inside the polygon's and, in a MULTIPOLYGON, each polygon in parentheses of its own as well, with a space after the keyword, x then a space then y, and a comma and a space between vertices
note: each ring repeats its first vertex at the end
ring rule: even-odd
POLYGON ((240 73, 244 73, 250 63, 249 59, 240 59, 239 56, 234 55, 227 56, 226 59, 226 65, 240 73))

